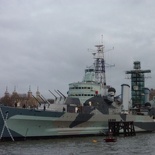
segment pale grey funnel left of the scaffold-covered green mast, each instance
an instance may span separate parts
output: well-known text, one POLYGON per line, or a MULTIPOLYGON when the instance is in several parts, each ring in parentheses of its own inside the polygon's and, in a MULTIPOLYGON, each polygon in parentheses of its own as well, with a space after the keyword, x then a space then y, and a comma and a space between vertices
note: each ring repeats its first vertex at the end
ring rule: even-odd
POLYGON ((130 86, 127 84, 122 84, 122 113, 128 114, 129 112, 129 93, 130 93, 130 86))

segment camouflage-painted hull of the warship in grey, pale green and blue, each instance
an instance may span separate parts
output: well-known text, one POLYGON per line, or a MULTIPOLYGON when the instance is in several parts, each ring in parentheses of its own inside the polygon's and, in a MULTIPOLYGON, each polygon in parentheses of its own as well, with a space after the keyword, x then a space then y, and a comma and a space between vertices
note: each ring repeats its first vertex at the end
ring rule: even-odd
POLYGON ((155 130, 150 116, 52 112, 0 107, 0 139, 103 134, 108 120, 134 121, 136 132, 155 130))

